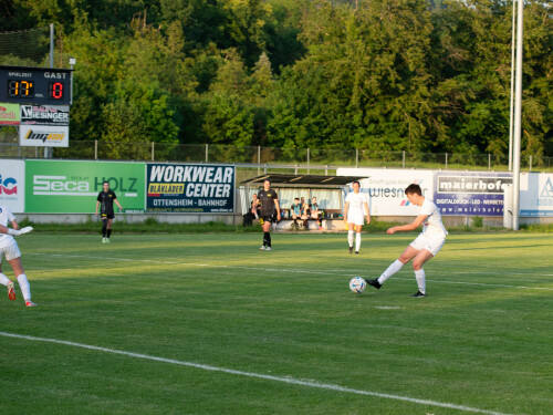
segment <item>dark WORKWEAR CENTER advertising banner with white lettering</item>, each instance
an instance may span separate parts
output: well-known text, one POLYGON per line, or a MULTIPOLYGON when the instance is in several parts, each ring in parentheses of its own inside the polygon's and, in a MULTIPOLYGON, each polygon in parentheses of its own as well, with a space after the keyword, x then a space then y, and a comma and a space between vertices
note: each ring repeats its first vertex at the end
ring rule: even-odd
POLYGON ((148 164, 147 211, 233 212, 233 166, 148 164))

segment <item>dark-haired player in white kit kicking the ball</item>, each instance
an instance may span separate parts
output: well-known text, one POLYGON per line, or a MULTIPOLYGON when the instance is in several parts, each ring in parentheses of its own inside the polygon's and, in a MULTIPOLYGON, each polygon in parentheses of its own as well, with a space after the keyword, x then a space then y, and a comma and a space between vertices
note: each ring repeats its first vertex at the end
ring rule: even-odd
POLYGON ((415 271, 418 291, 411 297, 426 297, 426 276, 422 266, 439 252, 446 242, 448 232, 441 222, 441 215, 438 207, 430 199, 422 196, 419 185, 409 185, 405 189, 405 196, 411 204, 420 206, 419 215, 413 224, 394 226, 386 232, 393 235, 397 231, 415 230, 420 225, 422 225, 422 232, 379 278, 366 281, 369 286, 379 289, 388 278, 398 272, 405 263, 413 259, 413 270, 415 271))

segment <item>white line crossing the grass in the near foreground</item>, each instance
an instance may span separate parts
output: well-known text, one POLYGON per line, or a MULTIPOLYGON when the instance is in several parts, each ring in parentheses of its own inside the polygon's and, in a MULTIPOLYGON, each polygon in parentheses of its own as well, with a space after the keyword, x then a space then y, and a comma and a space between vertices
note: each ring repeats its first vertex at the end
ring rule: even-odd
POLYGON ((23 335, 23 334, 14 334, 14 333, 6 333, 6 332, 0 332, 0 335, 4 336, 4 338, 23 339, 23 340, 30 340, 30 341, 35 341, 35 342, 64 344, 64 345, 73 346, 73 347, 93 350, 96 352, 119 354, 119 355, 124 355, 124 356, 128 356, 128 357, 176 364, 176 365, 180 365, 180 366, 200 369, 204 371, 221 372, 221 373, 227 373, 227 374, 238 375, 238 376, 262 378, 264 381, 282 382, 282 383, 288 383, 291 385, 313 387, 313 388, 320 388, 320 390, 326 390, 326 391, 333 391, 333 392, 344 392, 344 393, 351 393, 351 394, 355 394, 355 395, 376 396, 376 397, 383 397, 383 398, 388 398, 388 400, 394 400, 394 401, 409 402, 409 403, 419 404, 419 405, 438 406, 438 407, 457 409, 457 411, 462 411, 462 412, 472 412, 472 413, 477 413, 477 414, 508 415, 508 414, 504 414, 501 412, 480 409, 480 408, 471 407, 471 406, 448 404, 448 403, 444 403, 444 402, 436 402, 436 401, 428 401, 428 400, 418 400, 415 397, 392 395, 392 394, 387 394, 387 393, 354 390, 351 387, 344 387, 344 386, 334 385, 331 383, 317 383, 317 382, 312 382, 312 381, 301 381, 301 380, 296 380, 296 378, 289 377, 289 376, 272 376, 272 375, 263 375, 263 374, 253 373, 253 372, 236 371, 232 369, 211 366, 211 365, 194 363, 194 362, 177 361, 174 359, 150 356, 148 354, 125 352, 123 350, 100 347, 100 346, 94 346, 94 345, 88 345, 88 344, 83 344, 83 343, 69 342, 69 341, 64 341, 64 340, 35 338, 32 335, 23 335))

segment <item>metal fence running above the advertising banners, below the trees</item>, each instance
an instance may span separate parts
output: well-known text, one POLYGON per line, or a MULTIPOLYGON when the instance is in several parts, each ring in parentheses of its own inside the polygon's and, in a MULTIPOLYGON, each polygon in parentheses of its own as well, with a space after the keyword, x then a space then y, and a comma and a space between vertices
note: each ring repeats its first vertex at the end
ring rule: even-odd
MULTIPOLYGON (((492 154, 448 154, 373 152, 334 148, 237 147, 213 144, 115 143, 73 141, 67 148, 21 147, 0 143, 2 158, 65 158, 152 160, 187 163, 232 163, 257 169, 293 169, 298 173, 328 174, 338 167, 396 167, 508 170, 508 156, 492 154)), ((551 172, 553 157, 521 157, 522 170, 551 172)))

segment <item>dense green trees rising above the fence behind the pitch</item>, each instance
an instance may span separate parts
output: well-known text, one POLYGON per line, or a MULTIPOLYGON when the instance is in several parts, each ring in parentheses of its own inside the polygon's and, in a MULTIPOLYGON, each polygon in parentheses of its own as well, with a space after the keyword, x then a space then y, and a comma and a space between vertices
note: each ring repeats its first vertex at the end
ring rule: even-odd
MULTIPOLYGON (((72 139, 507 154, 503 0, 3 0, 75 58, 72 139)), ((553 8, 525 1, 522 151, 553 156, 553 8)), ((4 64, 25 64, 13 53, 4 64)))

